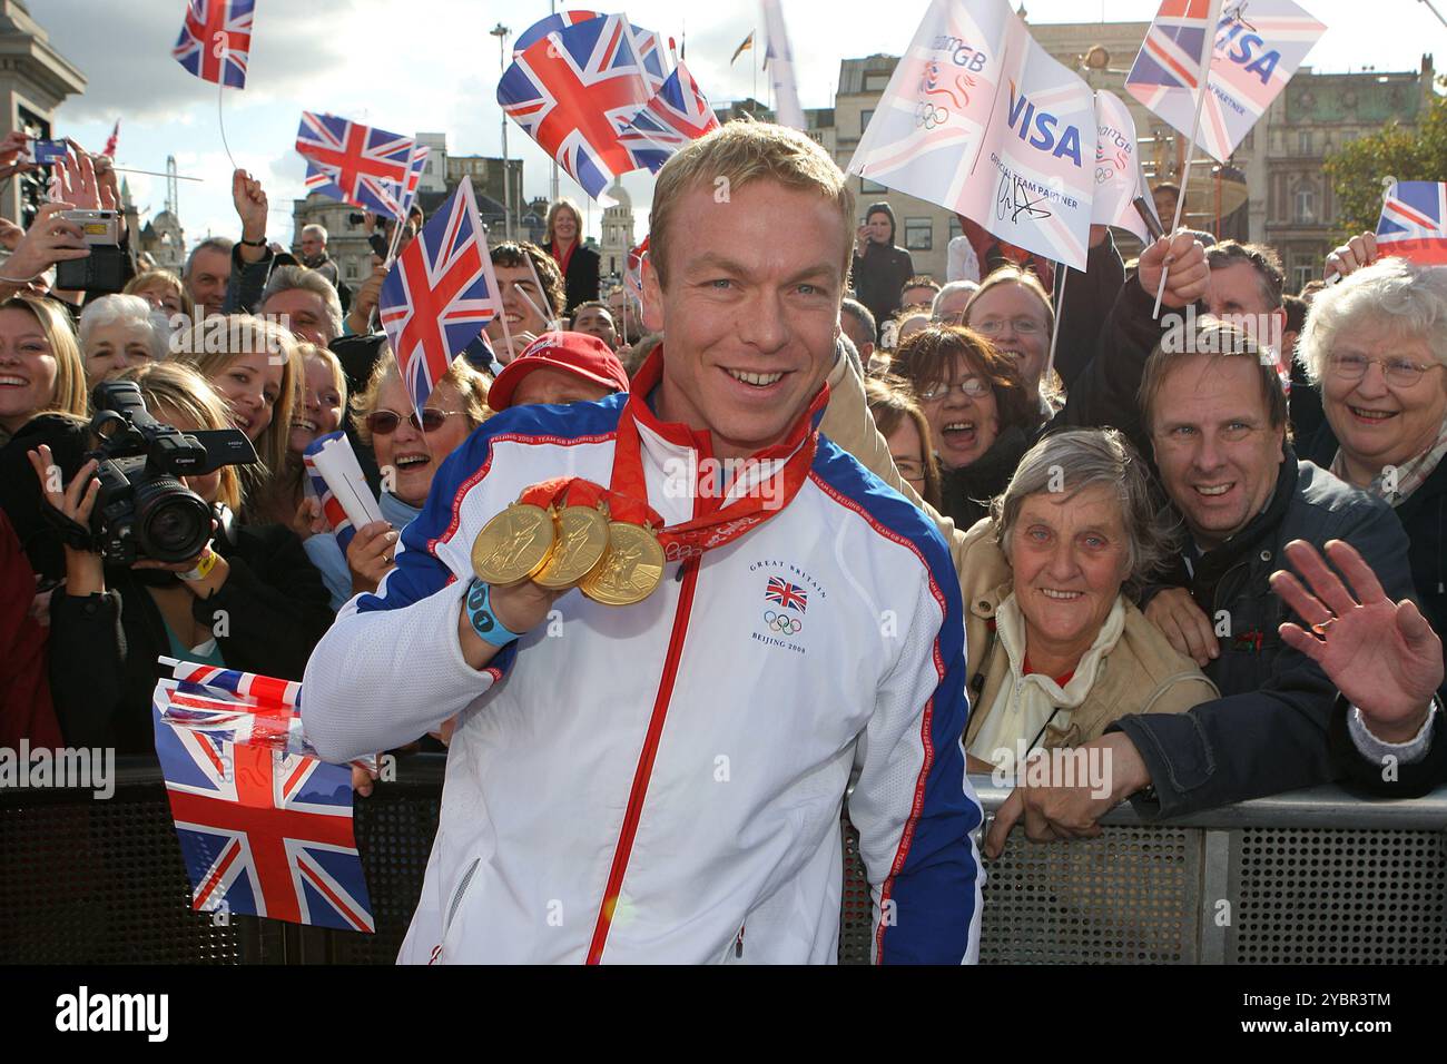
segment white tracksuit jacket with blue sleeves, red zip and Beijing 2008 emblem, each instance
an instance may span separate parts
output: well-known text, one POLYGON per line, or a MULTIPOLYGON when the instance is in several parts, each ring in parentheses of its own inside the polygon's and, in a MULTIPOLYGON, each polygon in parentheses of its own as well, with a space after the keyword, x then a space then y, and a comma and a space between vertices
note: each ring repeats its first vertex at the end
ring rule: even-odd
POLYGON ((974 961, 959 583, 925 515, 828 440, 783 510, 670 562, 644 602, 573 591, 483 672, 462 659, 478 531, 538 481, 606 485, 625 402, 648 502, 669 524, 693 515, 692 489, 669 485, 709 475, 708 439, 648 411, 657 371, 632 398, 476 430, 398 567, 311 659, 304 722, 328 760, 462 714, 399 960, 829 963, 854 780, 875 961, 974 961))

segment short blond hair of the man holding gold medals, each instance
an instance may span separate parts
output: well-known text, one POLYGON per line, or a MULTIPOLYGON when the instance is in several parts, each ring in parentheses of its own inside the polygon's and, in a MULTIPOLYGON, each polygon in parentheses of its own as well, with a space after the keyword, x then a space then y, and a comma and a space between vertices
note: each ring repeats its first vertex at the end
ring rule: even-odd
POLYGON ((735 119, 690 143, 658 171, 648 221, 648 262, 660 285, 667 284, 669 227, 679 200, 700 185, 724 195, 761 178, 786 188, 816 191, 839 207, 844 243, 839 279, 848 279, 854 252, 854 193, 844 171, 823 148, 796 129, 735 119))

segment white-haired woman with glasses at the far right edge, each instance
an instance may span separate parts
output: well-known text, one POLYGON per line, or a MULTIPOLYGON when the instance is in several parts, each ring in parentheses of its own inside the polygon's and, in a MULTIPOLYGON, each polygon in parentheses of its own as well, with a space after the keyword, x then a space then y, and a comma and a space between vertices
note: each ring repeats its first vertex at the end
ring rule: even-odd
POLYGON ((1447 631, 1447 268, 1351 272, 1312 300, 1297 359, 1325 414, 1301 456, 1396 510, 1418 602, 1447 631))

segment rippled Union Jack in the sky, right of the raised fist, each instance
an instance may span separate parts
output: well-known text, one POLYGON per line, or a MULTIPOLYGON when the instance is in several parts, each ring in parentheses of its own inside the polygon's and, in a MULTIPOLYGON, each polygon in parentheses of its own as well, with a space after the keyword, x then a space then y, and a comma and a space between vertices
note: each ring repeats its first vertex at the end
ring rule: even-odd
POLYGON ((302 111, 297 130, 297 151, 307 159, 307 191, 381 214, 395 214, 404 200, 415 149, 410 136, 334 114, 302 111))

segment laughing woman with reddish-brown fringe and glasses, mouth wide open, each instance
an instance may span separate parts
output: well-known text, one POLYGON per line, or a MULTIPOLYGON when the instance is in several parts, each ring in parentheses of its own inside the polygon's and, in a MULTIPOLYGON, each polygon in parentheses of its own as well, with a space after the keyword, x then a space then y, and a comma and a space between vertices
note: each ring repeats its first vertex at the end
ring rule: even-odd
POLYGON ((1013 358, 961 326, 917 332, 896 352, 893 372, 909 381, 929 421, 943 511, 968 528, 1039 437, 1039 402, 1013 358))

